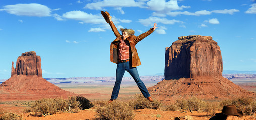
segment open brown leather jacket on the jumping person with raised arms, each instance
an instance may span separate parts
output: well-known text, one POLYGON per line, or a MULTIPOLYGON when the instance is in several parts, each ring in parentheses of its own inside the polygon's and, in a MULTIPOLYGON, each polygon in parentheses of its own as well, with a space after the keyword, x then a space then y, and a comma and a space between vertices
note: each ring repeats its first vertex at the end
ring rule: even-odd
MULTIPOLYGON (((113 63, 117 63, 118 62, 118 46, 119 46, 120 40, 122 40, 122 35, 118 32, 118 30, 116 29, 116 27, 112 21, 109 24, 112 28, 112 31, 114 32, 114 34, 116 36, 116 39, 113 42, 111 42, 111 46, 110 46, 110 61, 113 63)), ((135 48, 135 45, 139 41, 141 41, 142 39, 144 39, 145 37, 150 35, 152 32, 153 32, 153 28, 150 28, 150 30, 148 30, 147 32, 145 32, 139 36, 132 35, 127 38, 130 43, 130 50, 132 53, 132 58, 130 58, 130 62, 132 62, 132 67, 137 67, 137 66, 141 65, 141 61, 138 56, 137 49, 135 48)))

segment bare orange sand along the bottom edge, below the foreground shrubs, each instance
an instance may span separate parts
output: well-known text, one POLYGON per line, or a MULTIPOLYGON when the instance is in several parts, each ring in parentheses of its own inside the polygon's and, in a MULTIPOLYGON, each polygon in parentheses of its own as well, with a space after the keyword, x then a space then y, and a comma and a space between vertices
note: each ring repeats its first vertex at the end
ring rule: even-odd
MULTIPOLYGON (((185 116, 193 118, 194 120, 203 120, 203 119, 209 119, 210 117, 207 116, 206 113, 198 113, 198 112, 172 112, 172 111, 162 111, 162 110, 154 110, 154 109, 139 109, 134 110, 135 113, 135 120, 160 120, 160 119, 174 119, 175 117, 184 118, 185 116)), ((26 114, 25 114, 26 115, 26 114)), ((47 120, 70 120, 70 119, 77 119, 77 120, 85 120, 85 119, 95 119, 96 112, 94 109, 86 109, 83 111, 80 111, 78 113, 57 113, 53 115, 49 115, 46 117, 23 117, 27 120, 41 120, 41 119, 47 119, 47 120)), ((244 120, 252 120, 253 118, 250 116, 244 116, 244 120)))

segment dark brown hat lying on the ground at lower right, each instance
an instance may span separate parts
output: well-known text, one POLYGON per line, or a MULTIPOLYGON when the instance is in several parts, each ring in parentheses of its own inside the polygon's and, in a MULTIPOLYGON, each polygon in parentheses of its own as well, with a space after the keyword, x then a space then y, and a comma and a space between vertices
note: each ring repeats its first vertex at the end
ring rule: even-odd
POLYGON ((239 116, 242 117, 243 116, 243 112, 236 109, 235 105, 227 105, 227 106, 223 106, 222 112, 221 113, 217 113, 217 115, 226 115, 226 116, 239 116))

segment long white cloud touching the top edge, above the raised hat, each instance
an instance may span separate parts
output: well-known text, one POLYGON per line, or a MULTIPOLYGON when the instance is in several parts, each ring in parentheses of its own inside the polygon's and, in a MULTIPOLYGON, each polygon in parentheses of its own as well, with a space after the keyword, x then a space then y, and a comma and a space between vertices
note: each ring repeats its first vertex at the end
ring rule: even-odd
POLYGON ((143 2, 136 2, 134 0, 103 0, 94 3, 88 3, 84 8, 86 9, 94 9, 94 10, 102 10, 104 7, 144 7, 143 2))

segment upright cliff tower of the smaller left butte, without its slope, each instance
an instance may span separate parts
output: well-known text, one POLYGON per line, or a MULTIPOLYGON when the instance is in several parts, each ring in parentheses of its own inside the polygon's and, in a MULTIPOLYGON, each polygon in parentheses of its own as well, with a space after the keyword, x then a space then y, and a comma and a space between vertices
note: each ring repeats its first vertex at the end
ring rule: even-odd
POLYGON ((29 51, 22 53, 16 62, 16 68, 12 63, 12 75, 37 75, 42 77, 41 57, 36 55, 36 52, 29 51))

